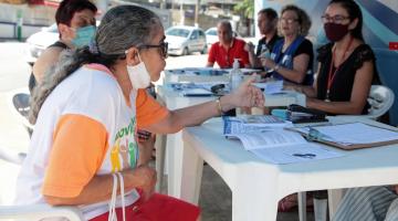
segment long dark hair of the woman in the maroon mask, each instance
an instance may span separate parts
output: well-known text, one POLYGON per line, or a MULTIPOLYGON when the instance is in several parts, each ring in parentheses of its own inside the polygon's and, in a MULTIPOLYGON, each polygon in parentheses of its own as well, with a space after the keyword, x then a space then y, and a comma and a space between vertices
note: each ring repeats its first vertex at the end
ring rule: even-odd
POLYGON ((349 14, 349 21, 358 19, 357 25, 350 31, 350 33, 354 38, 364 41, 364 35, 362 33, 364 19, 359 6, 354 0, 332 0, 328 6, 334 3, 342 6, 347 11, 349 14))

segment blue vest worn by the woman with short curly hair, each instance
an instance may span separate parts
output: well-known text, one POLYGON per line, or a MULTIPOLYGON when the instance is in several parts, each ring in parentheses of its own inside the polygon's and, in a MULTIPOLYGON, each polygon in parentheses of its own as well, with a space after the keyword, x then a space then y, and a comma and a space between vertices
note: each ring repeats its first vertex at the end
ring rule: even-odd
MULTIPOLYGON (((304 41, 304 36, 297 36, 292 43, 291 45, 289 45, 289 48, 286 49, 286 51, 282 56, 282 48, 284 44, 284 39, 281 39, 280 41, 277 41, 272 50, 271 53, 271 59, 276 62, 280 66, 293 70, 293 56, 294 53, 297 51, 297 48, 300 46, 300 44, 304 41)), ((311 62, 308 63, 311 64, 311 62)), ((283 80, 283 81, 287 81, 291 82, 289 80, 285 80, 281 74, 279 74, 277 72, 272 72, 270 76, 273 76, 276 80, 283 80)), ((312 85, 312 83, 314 82, 314 74, 313 74, 313 70, 312 67, 307 71, 305 77, 304 77, 304 85, 312 85)))

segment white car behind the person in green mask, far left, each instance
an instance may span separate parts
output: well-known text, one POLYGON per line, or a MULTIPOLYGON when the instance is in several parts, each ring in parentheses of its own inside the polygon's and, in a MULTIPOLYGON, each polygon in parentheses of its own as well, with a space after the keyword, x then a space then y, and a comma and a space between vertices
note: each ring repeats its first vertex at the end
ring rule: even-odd
POLYGON ((50 27, 42 28, 41 31, 30 35, 27 39, 27 62, 30 65, 33 65, 40 54, 59 39, 59 31, 55 23, 50 27))

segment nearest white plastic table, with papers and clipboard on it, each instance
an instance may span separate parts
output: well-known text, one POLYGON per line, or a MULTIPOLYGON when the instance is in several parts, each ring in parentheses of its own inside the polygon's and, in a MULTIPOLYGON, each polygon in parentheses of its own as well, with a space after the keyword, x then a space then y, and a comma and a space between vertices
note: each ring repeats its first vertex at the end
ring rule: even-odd
MULTIPOLYGON (((358 117, 331 120, 388 127, 358 117)), ((293 192, 398 183, 398 145, 346 151, 334 159, 273 165, 245 151, 238 140, 226 139, 221 127, 220 119, 212 119, 184 129, 180 198, 198 203, 205 160, 232 191, 233 221, 274 221, 277 201, 293 192)))

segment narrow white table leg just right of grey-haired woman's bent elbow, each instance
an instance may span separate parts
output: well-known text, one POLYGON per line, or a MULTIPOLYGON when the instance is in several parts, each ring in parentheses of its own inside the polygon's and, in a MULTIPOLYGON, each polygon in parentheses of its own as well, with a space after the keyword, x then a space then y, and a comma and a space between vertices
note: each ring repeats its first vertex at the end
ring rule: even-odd
POLYGON ((163 179, 165 177, 165 155, 166 155, 166 140, 167 135, 156 135, 156 171, 157 171, 157 182, 155 190, 156 192, 161 192, 163 179))

